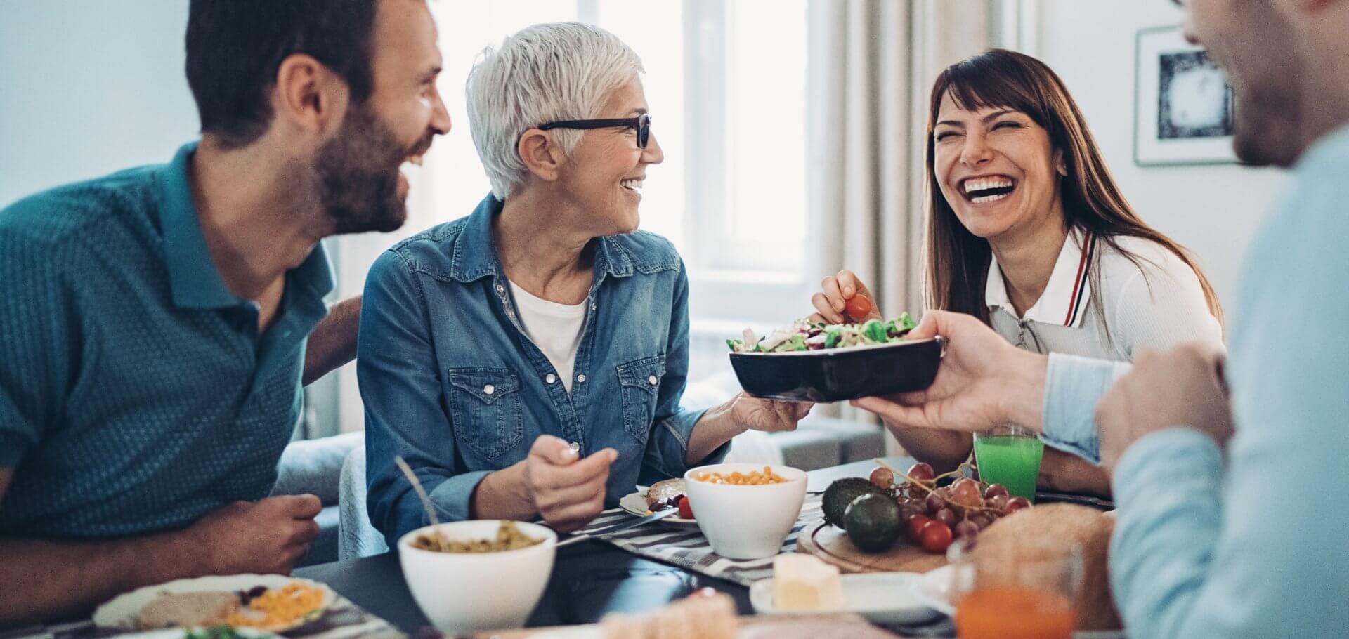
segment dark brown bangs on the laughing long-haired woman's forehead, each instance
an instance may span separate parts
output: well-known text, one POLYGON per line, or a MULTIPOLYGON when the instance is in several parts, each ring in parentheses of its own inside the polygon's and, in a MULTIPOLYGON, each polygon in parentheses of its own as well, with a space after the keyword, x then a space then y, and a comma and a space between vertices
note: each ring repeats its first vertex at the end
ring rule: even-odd
POLYGON ((934 89, 934 120, 942 109, 942 97, 950 94, 951 101, 963 111, 1018 111, 1044 128, 1050 128, 1052 121, 1044 78, 994 51, 951 65, 942 71, 934 89))

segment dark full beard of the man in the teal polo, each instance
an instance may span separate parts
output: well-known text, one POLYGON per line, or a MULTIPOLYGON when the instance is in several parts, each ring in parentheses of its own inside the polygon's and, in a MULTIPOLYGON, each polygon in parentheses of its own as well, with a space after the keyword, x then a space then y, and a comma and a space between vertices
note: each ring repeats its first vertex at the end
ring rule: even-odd
POLYGON ((318 202, 335 235, 403 225, 407 208, 398 197, 398 167, 409 152, 366 105, 347 111, 341 129, 314 159, 318 202))

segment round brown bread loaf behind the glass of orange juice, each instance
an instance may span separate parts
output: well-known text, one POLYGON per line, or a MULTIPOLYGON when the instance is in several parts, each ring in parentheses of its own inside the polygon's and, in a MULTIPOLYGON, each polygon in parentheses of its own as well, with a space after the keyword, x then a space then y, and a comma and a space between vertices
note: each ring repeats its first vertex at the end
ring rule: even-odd
POLYGON ((1109 551, 1114 518, 1077 504, 1043 504, 998 519, 975 539, 974 553, 1024 553, 1029 543, 1082 549, 1078 630, 1120 630, 1110 596, 1109 551))

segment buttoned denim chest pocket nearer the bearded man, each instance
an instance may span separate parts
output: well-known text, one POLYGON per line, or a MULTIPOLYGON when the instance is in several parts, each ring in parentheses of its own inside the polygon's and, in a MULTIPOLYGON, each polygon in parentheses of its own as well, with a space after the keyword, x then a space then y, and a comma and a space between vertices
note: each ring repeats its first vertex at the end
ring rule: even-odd
POLYGON ((447 403, 455 439, 484 460, 515 448, 525 435, 519 375, 506 368, 451 368, 447 403))

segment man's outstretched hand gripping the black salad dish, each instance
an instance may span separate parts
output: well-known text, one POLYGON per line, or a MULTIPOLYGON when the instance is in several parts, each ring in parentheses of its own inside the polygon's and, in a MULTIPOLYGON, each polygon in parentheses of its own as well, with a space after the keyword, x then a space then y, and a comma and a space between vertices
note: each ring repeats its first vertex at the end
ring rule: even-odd
POLYGON ((973 315, 929 311, 909 338, 947 338, 932 386, 890 398, 854 399, 900 427, 979 431, 996 423, 1040 430, 1044 356, 1010 345, 973 315))

